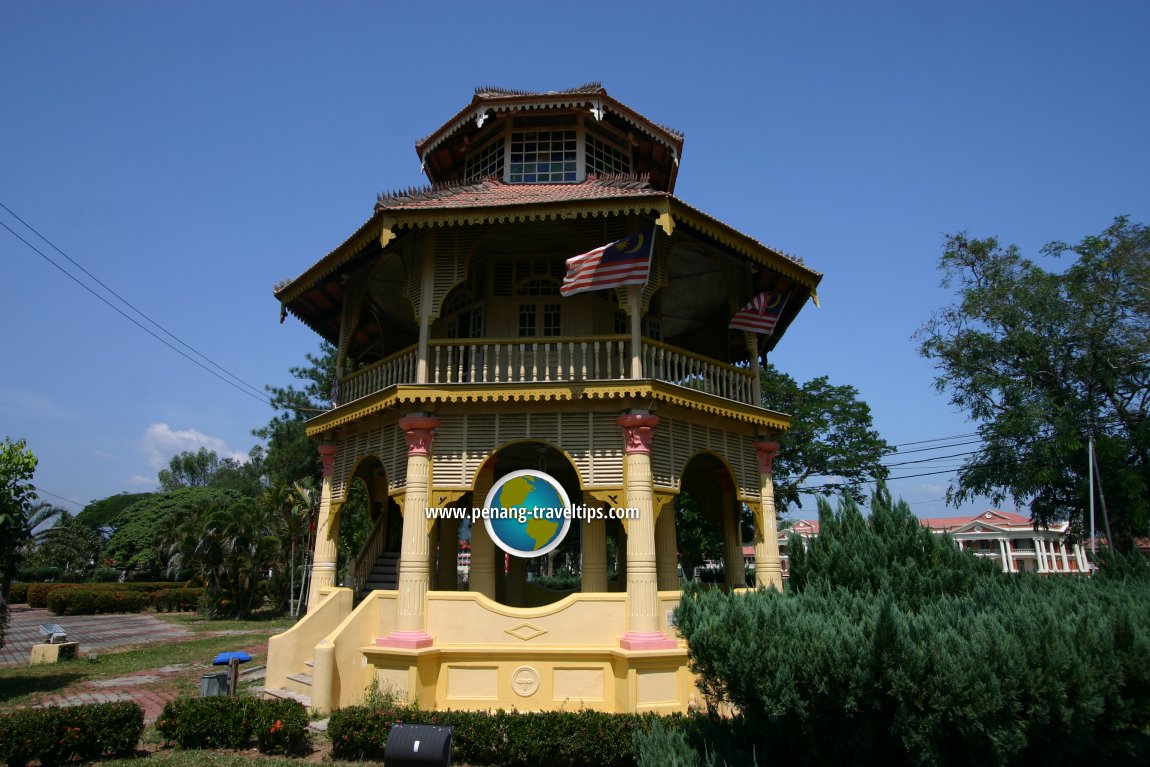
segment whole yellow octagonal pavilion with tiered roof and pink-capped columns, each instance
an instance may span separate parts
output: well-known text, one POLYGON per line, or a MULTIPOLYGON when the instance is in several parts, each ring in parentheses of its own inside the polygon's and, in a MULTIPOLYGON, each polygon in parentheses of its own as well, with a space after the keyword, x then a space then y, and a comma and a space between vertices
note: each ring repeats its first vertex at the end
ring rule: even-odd
POLYGON ((374 682, 424 708, 685 711, 674 498, 721 524, 733 589, 749 508, 754 583, 781 588, 772 461, 789 419, 761 407, 759 362, 821 275, 676 198, 682 135, 599 84, 480 89, 415 148, 430 185, 379 195, 275 292, 338 365, 307 423, 323 466, 308 612, 271 639, 267 691, 321 712, 374 682), (645 284, 560 293, 568 259, 644 232, 645 284), (785 297, 773 332, 730 330, 762 294, 785 297), (459 585, 460 523, 427 509, 483 506, 539 468, 573 504, 637 514, 572 524, 568 592, 475 523, 459 585), (337 585, 353 483, 374 529, 337 585))

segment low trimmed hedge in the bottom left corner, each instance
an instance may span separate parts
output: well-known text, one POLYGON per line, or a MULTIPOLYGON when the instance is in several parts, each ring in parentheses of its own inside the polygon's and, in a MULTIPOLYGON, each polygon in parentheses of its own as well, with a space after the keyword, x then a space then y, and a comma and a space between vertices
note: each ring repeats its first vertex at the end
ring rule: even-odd
POLYGON ((59 765, 105 754, 130 756, 144 731, 144 710, 135 703, 93 703, 67 708, 21 708, 0 714, 0 761, 59 765))

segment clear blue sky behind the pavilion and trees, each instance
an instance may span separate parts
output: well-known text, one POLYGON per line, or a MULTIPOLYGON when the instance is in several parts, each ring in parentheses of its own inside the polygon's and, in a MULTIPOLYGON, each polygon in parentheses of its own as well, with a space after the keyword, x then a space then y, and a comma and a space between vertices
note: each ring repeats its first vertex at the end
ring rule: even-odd
MULTIPOLYGON (((416 139, 475 86, 599 80, 685 133, 681 199, 826 274, 773 361, 857 386, 891 443, 933 439, 973 430, 911 339, 950 300, 944 235, 1037 256, 1150 222, 1147 29, 1150 3, 1122 1, 3 0, 0 202, 222 367, 282 385, 316 338, 278 324, 271 286, 377 192, 424 181, 416 139)), ((256 398, 2 229, 0 263, 0 437, 28 439, 43 490, 154 489, 181 450, 255 443, 256 398)), ((892 489, 954 514, 949 480, 892 489)))

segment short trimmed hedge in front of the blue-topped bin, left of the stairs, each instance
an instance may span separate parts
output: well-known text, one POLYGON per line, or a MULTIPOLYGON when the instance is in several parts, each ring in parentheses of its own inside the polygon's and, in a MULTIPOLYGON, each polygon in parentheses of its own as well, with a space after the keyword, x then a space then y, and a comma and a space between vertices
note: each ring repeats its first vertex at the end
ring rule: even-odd
POLYGON ((307 743, 307 710, 294 700, 214 697, 176 698, 163 707, 156 730, 181 749, 246 749, 299 753, 307 743))

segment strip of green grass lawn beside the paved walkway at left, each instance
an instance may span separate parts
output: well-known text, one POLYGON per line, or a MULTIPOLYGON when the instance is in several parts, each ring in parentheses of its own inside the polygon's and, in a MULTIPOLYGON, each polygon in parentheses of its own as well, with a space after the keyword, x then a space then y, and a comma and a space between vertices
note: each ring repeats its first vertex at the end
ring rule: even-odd
MULTIPOLYGON (((161 620, 178 623, 195 632, 185 639, 156 642, 138 646, 99 651, 98 658, 40 666, 0 668, 0 705, 20 706, 30 696, 52 693, 80 682, 126 676, 164 666, 207 667, 216 654, 267 643, 292 624, 290 619, 251 621, 208 621, 193 614, 160 614, 161 620), (220 636, 218 631, 244 631, 220 636)), ((252 653, 252 666, 262 665, 264 653, 252 653)), ((194 674, 172 675, 169 680, 179 692, 194 692, 194 674)))

